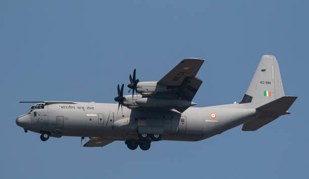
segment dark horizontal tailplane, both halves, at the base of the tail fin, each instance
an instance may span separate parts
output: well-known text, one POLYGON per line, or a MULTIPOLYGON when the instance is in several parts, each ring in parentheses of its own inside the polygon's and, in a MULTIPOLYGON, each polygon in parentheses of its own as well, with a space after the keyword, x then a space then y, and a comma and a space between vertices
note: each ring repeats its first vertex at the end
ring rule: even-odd
POLYGON ((261 107, 256 108, 261 112, 260 116, 242 126, 242 131, 256 131, 270 122, 276 120, 280 115, 289 114, 287 111, 297 97, 283 96, 261 107))

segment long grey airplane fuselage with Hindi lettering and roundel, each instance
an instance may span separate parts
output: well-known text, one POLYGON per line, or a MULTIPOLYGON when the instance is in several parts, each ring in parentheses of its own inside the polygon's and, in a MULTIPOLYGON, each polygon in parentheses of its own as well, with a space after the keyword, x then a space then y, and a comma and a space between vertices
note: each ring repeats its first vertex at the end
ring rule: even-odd
MULTIPOLYGON (((242 104, 189 107, 183 113, 169 110, 117 110, 117 104, 49 104, 21 117, 30 117, 25 129, 52 137, 99 137, 108 140, 138 139, 137 133, 162 134, 162 140, 199 141, 252 120, 255 109, 242 104)), ((25 126, 25 125, 24 125, 25 126)))

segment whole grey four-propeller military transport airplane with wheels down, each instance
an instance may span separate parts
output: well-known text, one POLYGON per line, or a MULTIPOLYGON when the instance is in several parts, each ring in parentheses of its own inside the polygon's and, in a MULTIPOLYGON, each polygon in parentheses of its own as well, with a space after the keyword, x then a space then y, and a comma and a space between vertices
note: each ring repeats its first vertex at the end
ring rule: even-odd
POLYGON ((256 131, 290 114, 288 109, 297 97, 284 95, 277 59, 271 55, 262 57, 241 102, 190 107, 196 105, 192 99, 202 81, 195 75, 203 62, 184 59, 158 82, 139 82, 134 70, 128 85, 132 95, 124 96, 124 85, 118 85, 118 104, 19 101, 36 104, 17 117, 16 124, 25 132, 40 133, 42 141, 78 136, 90 139, 84 147, 125 141, 131 150, 138 146, 148 150, 153 141, 200 141, 239 125, 243 131, 256 131))

